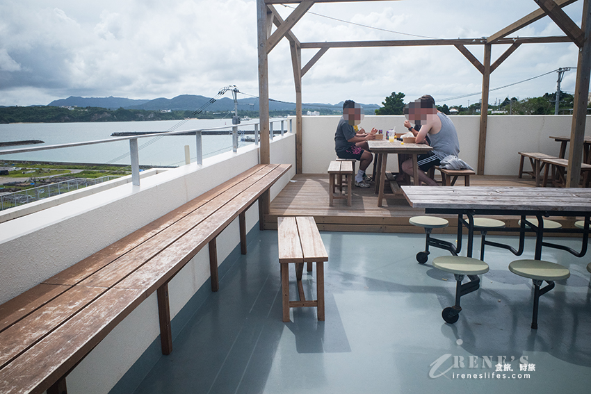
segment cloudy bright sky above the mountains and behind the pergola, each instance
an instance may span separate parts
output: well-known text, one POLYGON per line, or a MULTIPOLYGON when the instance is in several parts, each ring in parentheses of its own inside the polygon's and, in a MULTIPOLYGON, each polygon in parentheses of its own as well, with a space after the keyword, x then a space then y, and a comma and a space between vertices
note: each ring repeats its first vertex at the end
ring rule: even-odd
MULTIPOLYGON (((293 7, 275 6, 284 18, 293 7)), ((70 96, 214 97, 227 85, 244 93, 238 98, 258 96, 256 8, 255 0, 1 1, 0 106, 70 96)), ((581 26, 582 8, 579 0, 563 9, 581 26)), ((300 42, 481 38, 536 9, 533 0, 316 3, 293 33, 300 42)), ((549 35, 564 33, 544 17, 511 37, 549 35)), ((483 61, 482 46, 468 48, 483 61)), ((494 45, 492 60, 507 48, 494 45)), ((302 49, 302 65, 315 53, 302 49)), ((576 67, 577 58, 572 43, 521 45, 490 79, 491 89, 517 84, 491 91, 489 103, 556 92, 553 71, 576 67)), ((574 94, 575 79, 576 69, 566 72, 562 91, 574 94)), ((303 76, 302 100, 381 104, 403 92, 405 102, 430 94, 437 104, 467 106, 481 89, 482 74, 453 46, 331 48, 303 76)), ((269 96, 295 101, 285 38, 269 54, 269 96)))

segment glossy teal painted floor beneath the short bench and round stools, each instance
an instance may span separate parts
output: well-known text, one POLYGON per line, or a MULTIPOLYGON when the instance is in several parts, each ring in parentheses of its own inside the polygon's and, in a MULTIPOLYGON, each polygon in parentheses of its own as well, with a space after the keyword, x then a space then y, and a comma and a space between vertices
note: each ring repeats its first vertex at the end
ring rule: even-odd
MULTIPOLYGON (((544 248, 542 258, 567 266, 571 277, 540 298, 533 330, 531 280, 508 270, 512 260, 533 258, 533 238, 521 257, 487 247, 490 271, 449 325, 441 313, 454 303, 455 281, 431 265, 448 252, 432 249, 419 265, 424 236, 321 235, 329 255, 325 322, 313 308, 292 309, 291 322, 282 322, 277 232, 261 232, 136 393, 590 392, 590 254, 544 248)), ((515 238, 488 238, 517 246, 515 238)), ((305 272, 304 281, 314 288, 313 275, 305 272)))

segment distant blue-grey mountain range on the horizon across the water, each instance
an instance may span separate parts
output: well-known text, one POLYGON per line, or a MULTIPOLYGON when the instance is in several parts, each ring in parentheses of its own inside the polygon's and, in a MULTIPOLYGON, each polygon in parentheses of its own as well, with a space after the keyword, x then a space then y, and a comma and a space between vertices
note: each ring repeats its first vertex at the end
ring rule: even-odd
MULTIPOLYGON (((58 99, 51 101, 48 106, 77 106, 77 107, 100 107, 108 109, 143 109, 143 110, 198 110, 203 108, 210 112, 234 110, 234 100, 227 97, 218 99, 210 103, 211 98, 199 95, 180 95, 172 99, 163 97, 152 100, 126 99, 123 97, 74 97, 67 99, 58 99)), ((373 114, 374 110, 380 108, 376 104, 362 104, 366 113, 373 114)), ((309 103, 302 104, 302 108, 307 110, 329 109, 340 112, 343 108, 343 101, 339 104, 320 104, 309 103)), ((248 99, 238 99, 238 110, 259 110, 259 99, 252 97, 248 99)), ((269 110, 295 110, 294 103, 283 101, 269 101, 269 110)))

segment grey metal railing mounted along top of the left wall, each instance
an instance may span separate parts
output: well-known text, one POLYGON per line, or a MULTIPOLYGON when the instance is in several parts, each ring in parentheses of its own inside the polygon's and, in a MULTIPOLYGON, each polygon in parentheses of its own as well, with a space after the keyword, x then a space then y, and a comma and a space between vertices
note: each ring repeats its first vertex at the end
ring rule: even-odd
MULTIPOLYGON (((289 132, 292 132, 292 119, 289 120, 269 120, 269 137, 273 140, 273 123, 281 123, 281 136, 284 134, 284 122, 289 122, 289 132)), ((259 145, 259 122, 243 123, 241 126, 254 126, 254 144, 259 145)), ((153 138, 158 136, 175 136, 179 134, 195 133, 195 145, 197 148, 197 164, 203 164, 203 143, 202 143, 202 132, 203 131, 214 131, 228 129, 228 126, 213 127, 211 129, 197 129, 197 130, 182 130, 182 131, 166 131, 163 133, 149 133, 140 134, 138 136, 125 136, 109 138, 108 140, 94 140, 94 141, 83 141, 83 142, 70 142, 67 144, 58 145, 44 145, 40 147, 29 147, 29 148, 18 148, 18 149, 7 149, 0 151, 0 156, 4 154, 17 154, 26 153, 32 151, 44 151, 50 149, 62 149, 68 147, 81 147, 85 145, 96 145, 106 144, 108 142, 117 142, 122 140, 129 140, 129 155, 131 157, 131 182, 135 186, 140 186, 140 161, 138 151, 138 139, 139 138, 153 138)), ((238 150, 238 125, 232 126, 232 151, 238 150)))

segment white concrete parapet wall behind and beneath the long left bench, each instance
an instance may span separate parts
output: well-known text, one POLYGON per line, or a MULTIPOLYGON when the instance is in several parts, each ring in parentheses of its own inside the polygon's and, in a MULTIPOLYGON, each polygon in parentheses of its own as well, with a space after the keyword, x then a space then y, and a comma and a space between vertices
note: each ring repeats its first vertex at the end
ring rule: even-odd
MULTIPOLYGON (((295 136, 271 143, 271 163, 292 168, 270 190, 273 199, 295 174, 295 136)), ((80 199, 0 223, 0 304, 152 222, 172 209, 259 163, 250 145, 80 199)), ((259 220, 258 205, 246 213, 247 231, 259 220)), ((238 219, 218 236, 222 263, 239 244, 238 219)), ((182 309, 209 279, 209 251, 202 249, 169 285, 170 315, 182 309)), ((154 293, 125 318, 67 378, 68 391, 108 393, 159 336, 154 293)))

